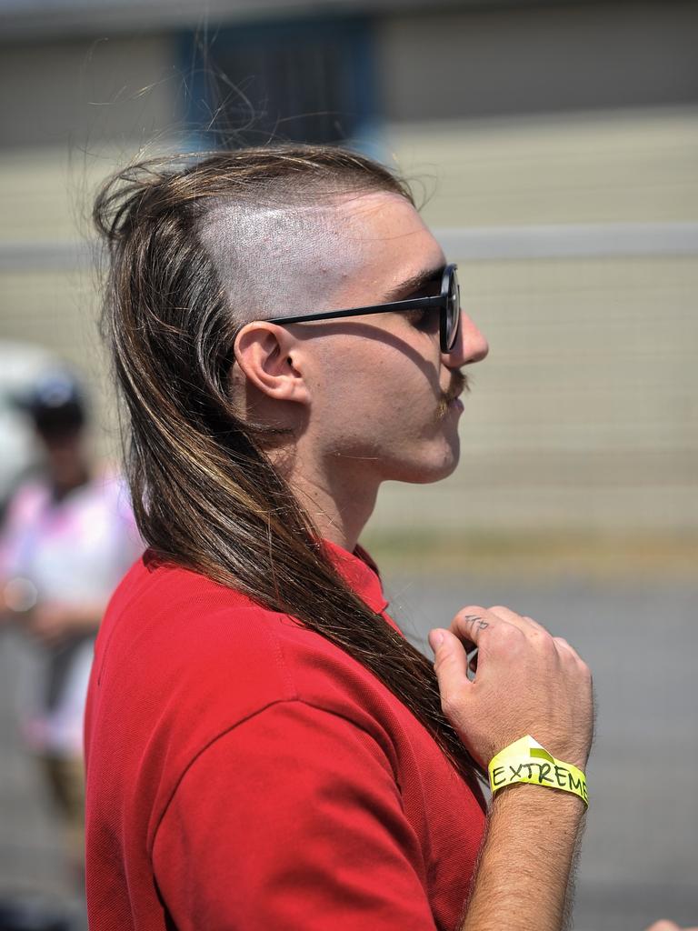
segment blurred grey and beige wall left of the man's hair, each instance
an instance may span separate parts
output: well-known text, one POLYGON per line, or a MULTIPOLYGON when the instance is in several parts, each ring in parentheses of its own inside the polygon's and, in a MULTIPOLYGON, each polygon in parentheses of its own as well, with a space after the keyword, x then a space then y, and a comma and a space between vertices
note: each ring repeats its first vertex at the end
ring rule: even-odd
POLYGON ((86 378, 101 452, 119 454, 98 332, 90 201, 183 108, 169 34, 67 29, 0 52, 0 339, 47 345, 86 378))

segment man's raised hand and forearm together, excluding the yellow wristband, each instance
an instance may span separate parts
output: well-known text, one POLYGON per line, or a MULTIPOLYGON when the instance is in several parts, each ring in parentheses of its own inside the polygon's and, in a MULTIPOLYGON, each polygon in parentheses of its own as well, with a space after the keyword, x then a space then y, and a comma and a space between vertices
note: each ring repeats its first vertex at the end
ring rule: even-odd
MULTIPOLYGON (((591 673, 567 641, 508 608, 470 607, 450 630, 432 630, 429 642, 444 713, 483 766, 530 734, 584 769, 594 724, 591 673)), ((498 792, 461 931, 560 931, 583 825, 584 803, 568 792, 525 784, 498 792)))

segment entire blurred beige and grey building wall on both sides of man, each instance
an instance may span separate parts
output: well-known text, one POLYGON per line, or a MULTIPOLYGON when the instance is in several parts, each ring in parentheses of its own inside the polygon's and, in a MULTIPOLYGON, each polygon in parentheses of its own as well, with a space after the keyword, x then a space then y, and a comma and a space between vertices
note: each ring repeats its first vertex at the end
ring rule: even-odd
MULTIPOLYGON (((698 6, 394 6, 373 24, 371 142, 429 194, 492 348, 463 465, 388 486, 379 526, 694 533, 698 6)), ((0 55, 0 337, 87 372, 105 448, 85 205, 179 131, 185 67, 181 26, 25 30, 0 55)))

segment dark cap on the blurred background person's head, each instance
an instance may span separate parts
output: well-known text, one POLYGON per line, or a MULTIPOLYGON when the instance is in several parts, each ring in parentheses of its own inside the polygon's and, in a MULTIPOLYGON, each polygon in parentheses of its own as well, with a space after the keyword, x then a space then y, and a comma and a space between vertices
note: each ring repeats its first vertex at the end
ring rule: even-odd
POLYGON ((70 371, 46 372, 18 399, 18 405, 45 439, 77 433, 87 419, 82 388, 70 371))

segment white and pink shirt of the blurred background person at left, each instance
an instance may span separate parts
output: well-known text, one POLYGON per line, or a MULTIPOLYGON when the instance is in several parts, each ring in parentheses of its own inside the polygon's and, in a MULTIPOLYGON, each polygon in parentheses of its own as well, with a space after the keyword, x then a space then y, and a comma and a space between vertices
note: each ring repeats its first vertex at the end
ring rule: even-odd
MULTIPOLYGON (((37 603, 106 605, 142 551, 128 489, 105 473, 54 502, 46 480, 20 486, 0 536, 0 584, 25 580, 37 603)), ((93 635, 44 649, 22 700, 25 736, 34 749, 59 755, 82 752, 93 635), (52 680, 53 677, 53 680, 52 680), (50 681, 58 691, 47 701, 50 681)))

